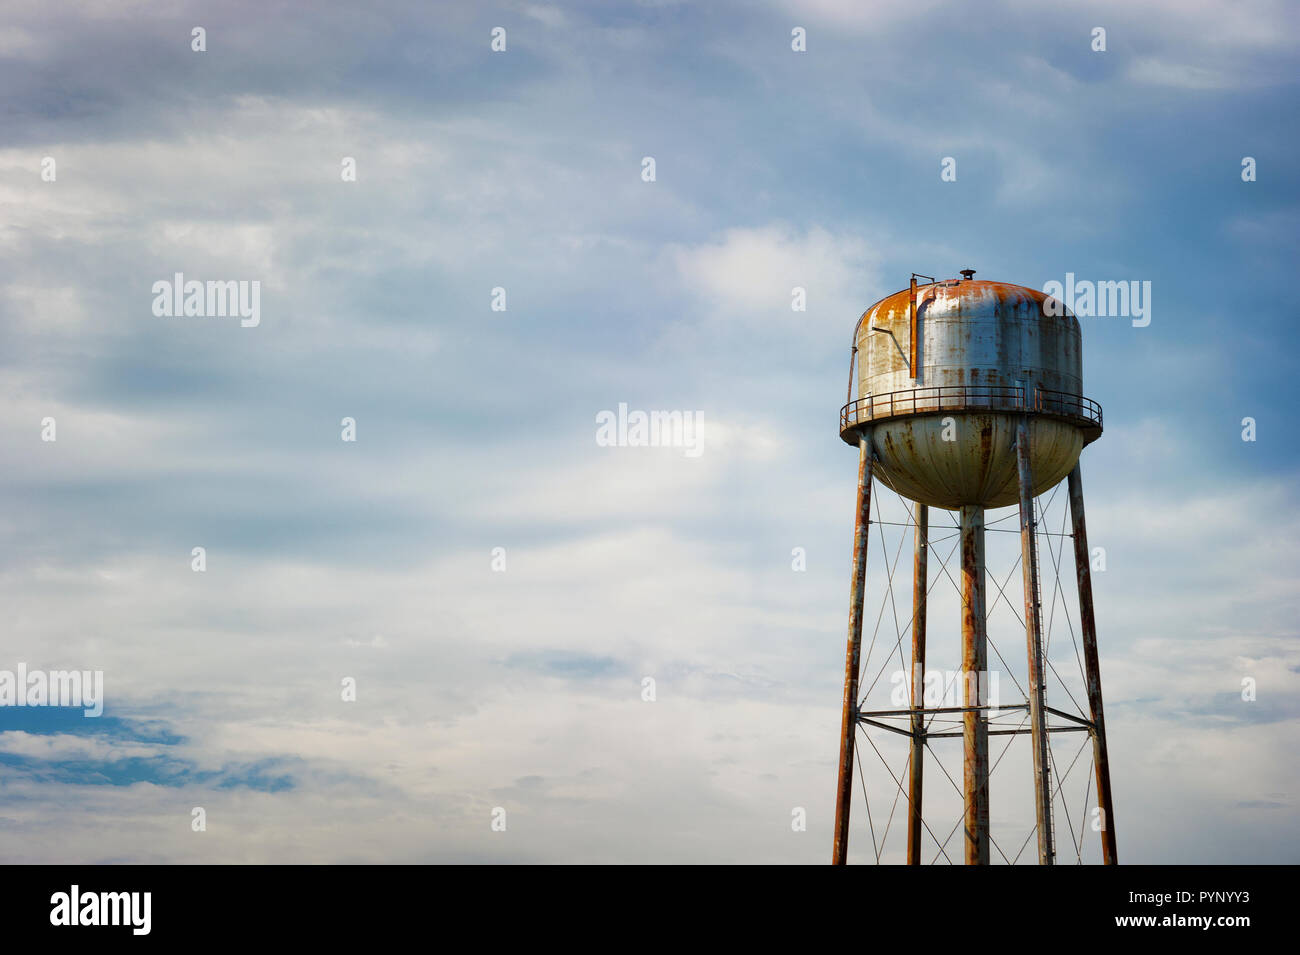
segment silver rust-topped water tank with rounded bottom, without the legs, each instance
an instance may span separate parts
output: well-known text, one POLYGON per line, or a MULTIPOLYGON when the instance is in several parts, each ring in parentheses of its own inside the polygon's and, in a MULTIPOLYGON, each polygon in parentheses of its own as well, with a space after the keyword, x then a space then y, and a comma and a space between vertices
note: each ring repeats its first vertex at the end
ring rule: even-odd
POLYGON ((868 435, 880 481, 948 509, 1018 502, 1020 416, 1035 494, 1101 435, 1101 407, 1083 396, 1079 320, 1040 291, 974 274, 914 279, 863 313, 858 398, 840 412, 841 438, 868 435))

